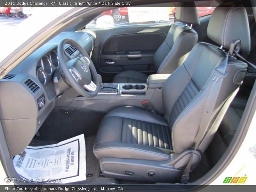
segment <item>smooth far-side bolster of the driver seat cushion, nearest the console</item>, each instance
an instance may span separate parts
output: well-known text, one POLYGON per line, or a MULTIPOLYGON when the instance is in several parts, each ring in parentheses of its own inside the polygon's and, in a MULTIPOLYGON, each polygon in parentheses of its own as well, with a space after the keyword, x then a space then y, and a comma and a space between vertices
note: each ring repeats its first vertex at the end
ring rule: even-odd
POLYGON ((138 121, 145 121, 148 123, 169 126, 168 122, 162 116, 137 107, 117 107, 108 112, 105 117, 107 116, 123 117, 138 121))

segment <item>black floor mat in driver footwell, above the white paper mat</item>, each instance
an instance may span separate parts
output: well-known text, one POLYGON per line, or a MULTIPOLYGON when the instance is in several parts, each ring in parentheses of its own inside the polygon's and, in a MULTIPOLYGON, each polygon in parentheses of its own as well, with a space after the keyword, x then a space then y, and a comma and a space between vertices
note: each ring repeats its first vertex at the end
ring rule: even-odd
POLYGON ((97 134, 105 113, 83 108, 56 107, 39 129, 39 140, 63 141, 80 134, 91 137, 97 134))

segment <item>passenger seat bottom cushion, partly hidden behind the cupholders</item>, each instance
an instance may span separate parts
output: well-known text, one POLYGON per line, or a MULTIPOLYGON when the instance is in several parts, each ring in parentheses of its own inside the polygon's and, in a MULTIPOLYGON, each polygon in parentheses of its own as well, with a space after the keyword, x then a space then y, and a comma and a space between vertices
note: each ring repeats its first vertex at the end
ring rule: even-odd
POLYGON ((146 83, 148 75, 140 73, 138 71, 122 71, 118 73, 114 79, 113 83, 146 83))

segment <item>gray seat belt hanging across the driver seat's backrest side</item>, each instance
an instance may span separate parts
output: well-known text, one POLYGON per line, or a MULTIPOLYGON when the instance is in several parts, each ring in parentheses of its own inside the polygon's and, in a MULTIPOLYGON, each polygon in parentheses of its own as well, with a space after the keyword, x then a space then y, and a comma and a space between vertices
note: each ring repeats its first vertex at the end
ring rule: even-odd
POLYGON ((216 95, 218 95, 220 92, 220 87, 223 82, 223 78, 225 78, 228 75, 226 72, 226 69, 227 69, 227 65, 228 65, 229 56, 230 55, 233 56, 235 54, 237 57, 244 60, 246 63, 248 63, 249 65, 251 65, 253 68, 256 69, 256 66, 254 64, 252 64, 249 61, 247 61, 246 59, 244 59, 238 53, 240 50, 240 45, 241 45, 240 40, 233 41, 230 45, 230 49, 229 49, 229 52, 228 52, 226 58, 220 63, 220 65, 217 68, 214 69, 215 75, 212 79, 211 89, 208 92, 208 97, 204 104, 204 110, 203 110, 203 114, 201 117, 199 130, 198 130, 198 132, 196 134, 196 138, 195 138, 196 142, 195 142, 194 151, 193 151, 193 154, 190 157, 188 164, 187 164, 186 168, 184 169, 184 172, 180 178, 180 183, 184 183, 184 184, 188 183, 189 172, 190 172, 190 168, 192 165, 193 156, 194 156, 196 150, 198 149, 199 145, 203 141, 205 133, 207 133, 207 131, 208 131, 208 130, 205 130, 205 128, 208 127, 210 124, 210 118, 212 115, 212 111, 214 110, 214 106, 215 106, 216 100, 218 98, 218 97, 216 97, 216 95))

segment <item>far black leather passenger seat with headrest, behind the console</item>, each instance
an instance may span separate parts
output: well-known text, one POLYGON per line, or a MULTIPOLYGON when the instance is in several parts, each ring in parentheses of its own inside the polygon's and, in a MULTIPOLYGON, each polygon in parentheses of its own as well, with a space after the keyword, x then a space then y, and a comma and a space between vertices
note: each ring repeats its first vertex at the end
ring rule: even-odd
MULTIPOLYGON (((194 2, 179 3, 175 17, 182 23, 200 25, 194 2)), ((197 40, 196 31, 189 26, 181 23, 172 25, 154 55, 153 64, 157 74, 171 74, 186 60, 197 40)), ((145 83, 147 78, 148 75, 144 73, 127 70, 118 73, 113 83, 145 83)))

